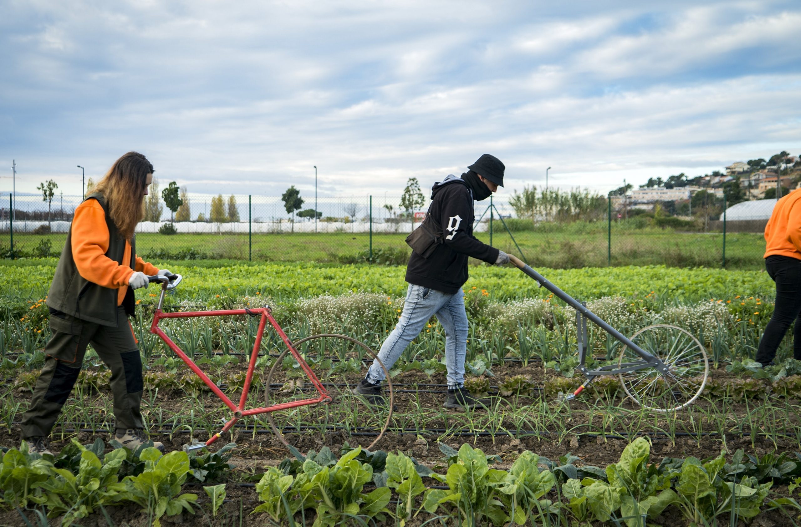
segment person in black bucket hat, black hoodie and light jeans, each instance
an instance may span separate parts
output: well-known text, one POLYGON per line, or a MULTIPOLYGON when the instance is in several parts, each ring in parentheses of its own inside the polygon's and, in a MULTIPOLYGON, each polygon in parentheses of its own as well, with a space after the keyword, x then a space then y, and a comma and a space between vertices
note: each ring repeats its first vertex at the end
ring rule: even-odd
MULTIPOLYGON (((509 263, 509 255, 504 251, 473 236, 473 200, 487 199, 497 187, 503 187, 504 164, 493 155, 485 154, 468 169, 460 178, 449 175, 431 189, 432 202, 427 217, 429 224, 436 226, 439 243, 427 257, 412 251, 406 268, 409 289, 403 312, 378 352, 384 366, 392 368, 406 346, 420 334, 431 316, 436 315, 445 329, 448 367, 445 408, 464 409, 481 404, 469 396, 464 387, 467 313, 461 287, 468 278, 468 257, 496 265, 509 263)), ((370 404, 383 404, 382 380, 384 368, 374 360, 353 392, 364 396, 370 404)))

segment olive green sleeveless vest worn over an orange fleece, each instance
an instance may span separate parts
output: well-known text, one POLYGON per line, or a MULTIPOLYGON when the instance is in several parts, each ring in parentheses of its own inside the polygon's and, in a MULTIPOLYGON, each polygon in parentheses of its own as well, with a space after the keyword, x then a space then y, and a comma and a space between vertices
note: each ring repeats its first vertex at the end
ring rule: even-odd
MULTIPOLYGON (((87 195, 86 199, 97 199, 106 213, 108 227, 108 251, 106 255, 121 265, 135 269, 136 244, 131 240, 131 261, 123 263, 125 254, 125 239, 121 238, 117 226, 108 212, 106 198, 99 192, 87 195)), ((50 284, 50 293, 47 295, 47 306, 67 315, 81 320, 102 324, 103 326, 116 326, 117 321, 117 289, 104 288, 90 282, 78 273, 75 260, 72 257, 72 226, 66 235, 64 250, 58 259, 53 284, 50 284)), ((125 295, 123 306, 129 316, 134 314, 134 292, 131 288, 125 295)))

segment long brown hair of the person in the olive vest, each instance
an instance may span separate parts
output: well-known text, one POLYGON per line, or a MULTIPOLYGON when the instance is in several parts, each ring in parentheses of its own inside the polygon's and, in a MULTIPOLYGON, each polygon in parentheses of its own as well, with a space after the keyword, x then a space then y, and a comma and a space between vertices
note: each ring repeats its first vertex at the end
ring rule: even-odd
POLYGON ((119 234, 132 239, 136 224, 142 220, 142 203, 147 187, 147 175, 153 173, 153 165, 139 152, 128 152, 117 159, 95 186, 108 203, 109 214, 119 234))

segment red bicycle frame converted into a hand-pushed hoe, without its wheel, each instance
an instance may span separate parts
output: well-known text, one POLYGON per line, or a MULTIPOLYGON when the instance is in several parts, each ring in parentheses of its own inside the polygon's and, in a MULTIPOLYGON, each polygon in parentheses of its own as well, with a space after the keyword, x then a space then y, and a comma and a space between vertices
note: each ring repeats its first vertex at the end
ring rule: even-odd
MULTIPOLYGON (((155 315, 153 316, 153 324, 151 324, 151 333, 155 333, 161 337, 167 346, 170 347, 172 351, 178 355, 183 362, 187 364, 187 366, 195 372, 195 375, 199 376, 200 379, 203 380, 209 389, 215 393, 216 396, 219 397, 220 400, 225 403, 228 408, 231 408, 231 412, 233 412, 233 417, 231 420, 228 420, 227 423, 223 426, 223 429, 219 432, 215 433, 213 436, 209 438, 208 441, 205 443, 199 443, 198 445, 191 445, 187 447, 187 450, 195 450, 195 449, 202 449, 208 445, 211 445, 215 441, 222 436, 223 433, 227 432, 231 429, 231 427, 238 421, 239 419, 245 416, 256 416, 261 413, 268 413, 268 412, 275 412, 276 410, 285 410, 287 408, 296 408, 298 406, 306 406, 308 404, 318 404, 318 403, 329 403, 331 402, 332 398, 328 395, 328 392, 325 391, 325 387, 317 376, 312 372, 312 368, 309 368, 306 361, 303 360, 303 357, 300 356, 300 353, 297 352, 295 346, 292 345, 292 341, 290 341, 284 333, 284 330, 281 329, 280 325, 276 322, 276 319, 272 317, 272 310, 265 306, 264 308, 255 308, 255 309, 226 309, 223 311, 191 311, 191 312, 168 312, 165 313, 161 310, 162 301, 164 292, 167 291, 167 284, 162 284, 162 294, 161 298, 159 299, 159 307, 155 310, 155 315), (229 316, 229 315, 249 315, 249 316, 260 316, 259 321, 259 331, 256 333, 256 344, 253 345, 253 351, 251 352, 250 362, 248 363, 248 375, 245 376, 244 386, 242 388, 242 396, 239 397, 239 404, 236 405, 231 401, 231 399, 226 396, 219 387, 208 378, 208 376, 203 373, 198 365, 195 364, 195 361, 191 359, 190 356, 187 356, 186 353, 179 348, 175 342, 173 342, 166 333, 163 332, 162 328, 159 328, 159 322, 163 319, 187 319, 193 318, 195 316, 229 316), (287 348, 292 353, 292 356, 295 357, 295 360, 298 361, 300 364, 300 368, 303 368, 303 371, 308 376, 308 379, 312 381, 314 387, 317 389, 319 394, 318 397, 315 399, 304 399, 304 400, 295 400, 288 403, 280 403, 280 404, 272 404, 272 406, 265 406, 262 408, 252 408, 252 409, 245 409, 245 402, 248 400, 248 392, 250 392, 251 382, 253 380, 253 371, 256 368, 256 360, 259 357, 259 348, 261 347, 261 337, 264 335, 264 327, 267 325, 267 321, 270 321, 272 327, 275 328, 276 332, 281 337, 281 340, 284 340, 284 344, 287 345, 287 348)), ((269 387, 268 387, 269 388, 269 387)))

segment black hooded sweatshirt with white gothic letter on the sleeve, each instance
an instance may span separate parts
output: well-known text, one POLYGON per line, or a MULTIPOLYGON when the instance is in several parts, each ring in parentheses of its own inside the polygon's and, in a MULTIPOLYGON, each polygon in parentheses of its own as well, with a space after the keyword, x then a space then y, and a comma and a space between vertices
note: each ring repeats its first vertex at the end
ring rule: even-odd
POLYGON ((406 281, 453 295, 467 281, 468 256, 495 263, 499 251, 473 236, 473 194, 464 179, 449 175, 434 183, 431 199, 427 214, 441 225, 445 243, 428 259, 412 251, 406 281))

